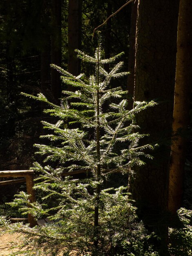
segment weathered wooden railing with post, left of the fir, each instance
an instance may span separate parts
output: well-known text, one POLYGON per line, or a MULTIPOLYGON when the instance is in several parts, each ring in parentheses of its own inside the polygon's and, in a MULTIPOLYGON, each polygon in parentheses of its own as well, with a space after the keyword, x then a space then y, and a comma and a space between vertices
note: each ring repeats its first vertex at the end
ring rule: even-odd
MULTIPOLYGON (((8 185, 20 182, 26 182, 27 194, 30 195, 30 202, 35 202, 35 191, 33 190, 33 176, 34 172, 32 170, 20 170, 20 171, 0 171, 0 177, 25 177, 17 180, 6 180, 1 181, 0 185, 8 185)), ((28 214, 28 222, 30 227, 37 225, 36 220, 34 220, 31 214, 28 214)))

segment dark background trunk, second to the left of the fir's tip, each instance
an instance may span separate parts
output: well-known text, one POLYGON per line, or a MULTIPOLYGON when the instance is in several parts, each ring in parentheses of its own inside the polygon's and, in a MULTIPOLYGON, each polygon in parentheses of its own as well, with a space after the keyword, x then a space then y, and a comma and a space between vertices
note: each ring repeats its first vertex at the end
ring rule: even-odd
MULTIPOLYGON (((51 63, 61 65, 61 1, 52 0, 51 63)), ((51 91, 54 101, 59 104, 61 97, 60 74, 51 69, 51 91)))

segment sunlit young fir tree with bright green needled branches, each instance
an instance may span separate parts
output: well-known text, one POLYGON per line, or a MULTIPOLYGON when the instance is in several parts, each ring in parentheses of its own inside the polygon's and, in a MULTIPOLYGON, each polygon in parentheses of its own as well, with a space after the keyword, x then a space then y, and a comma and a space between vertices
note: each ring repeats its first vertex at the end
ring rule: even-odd
MULTIPOLYGON (((136 219, 127 188, 105 189, 103 184, 112 172, 132 175, 133 166, 144 164, 140 157, 150 157, 143 152, 150 145, 138 146, 144 135, 135 132, 135 115, 154 102, 136 102, 132 110, 127 110, 127 100, 123 98, 127 92, 121 87, 109 88, 112 79, 127 72, 120 72, 123 62, 114 64, 110 72, 103 66, 114 63, 122 54, 103 59, 100 43, 94 57, 77 52, 79 58, 95 66, 95 74, 87 79, 83 74, 74 76, 52 65, 61 73, 63 83, 76 88, 75 92, 63 91, 60 106, 42 94, 28 95, 49 104, 51 108, 45 112, 59 121, 43 121, 51 134, 42 138, 50 143, 35 145, 48 163, 43 166, 35 162, 33 166, 38 174, 34 186, 37 202, 30 203, 28 195, 21 192, 11 203, 23 214, 30 213, 37 219, 59 219, 61 227, 31 229, 15 224, 11 229, 27 234, 27 245, 41 255, 123 255, 123 247, 127 248, 126 255, 148 255, 141 235, 144 228, 136 219), (62 176, 63 172, 71 174, 77 170, 85 170, 89 175, 84 179, 62 176)), ((9 227, 7 222, 4 225, 9 227)))

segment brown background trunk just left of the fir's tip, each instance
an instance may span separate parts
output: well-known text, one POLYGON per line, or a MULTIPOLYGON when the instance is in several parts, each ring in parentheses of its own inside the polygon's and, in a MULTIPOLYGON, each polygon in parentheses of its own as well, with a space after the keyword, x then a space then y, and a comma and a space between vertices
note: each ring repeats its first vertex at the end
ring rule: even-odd
MULTIPOLYGON (((81 14, 82 0, 69 0, 68 11, 68 71, 77 76, 80 74, 80 59, 76 57, 75 49, 81 48, 81 14)), ((73 88, 68 87, 69 90, 73 88)))

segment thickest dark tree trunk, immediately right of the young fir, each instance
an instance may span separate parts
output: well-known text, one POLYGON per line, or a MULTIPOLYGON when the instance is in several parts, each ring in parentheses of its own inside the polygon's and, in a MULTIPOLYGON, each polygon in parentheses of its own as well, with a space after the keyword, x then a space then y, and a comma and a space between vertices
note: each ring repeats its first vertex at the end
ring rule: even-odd
POLYGON ((136 172, 133 196, 141 217, 161 237, 161 255, 168 254, 167 226, 170 138, 174 102, 176 33, 179 0, 138 0, 134 101, 155 100, 159 105, 137 116, 143 143, 158 143, 136 172))

